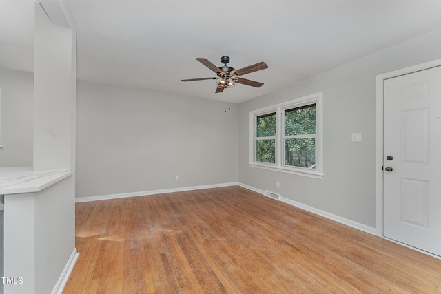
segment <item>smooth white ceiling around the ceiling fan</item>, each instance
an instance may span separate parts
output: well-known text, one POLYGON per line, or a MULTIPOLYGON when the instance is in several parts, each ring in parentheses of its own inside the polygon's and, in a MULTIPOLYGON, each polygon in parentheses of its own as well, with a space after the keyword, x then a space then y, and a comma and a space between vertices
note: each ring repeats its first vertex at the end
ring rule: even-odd
MULTIPOLYGON (((441 1, 67 0, 80 80, 240 103, 441 28, 441 1), (195 60, 268 69, 215 94, 195 60)), ((32 72, 34 1, 0 0, 0 67, 32 72)))

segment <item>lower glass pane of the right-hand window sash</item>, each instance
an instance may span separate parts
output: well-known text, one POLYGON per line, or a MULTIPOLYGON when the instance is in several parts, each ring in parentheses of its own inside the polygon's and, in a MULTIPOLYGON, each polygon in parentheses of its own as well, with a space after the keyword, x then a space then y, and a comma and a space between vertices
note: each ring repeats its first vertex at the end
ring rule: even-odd
POLYGON ((316 139, 285 139, 285 165, 316 168, 316 139))

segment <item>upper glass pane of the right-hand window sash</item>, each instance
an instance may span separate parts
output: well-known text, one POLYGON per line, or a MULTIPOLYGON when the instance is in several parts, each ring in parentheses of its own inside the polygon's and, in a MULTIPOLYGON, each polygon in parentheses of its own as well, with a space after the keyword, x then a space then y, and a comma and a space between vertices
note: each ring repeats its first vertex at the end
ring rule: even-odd
POLYGON ((316 105, 285 110, 285 135, 316 134, 316 105))

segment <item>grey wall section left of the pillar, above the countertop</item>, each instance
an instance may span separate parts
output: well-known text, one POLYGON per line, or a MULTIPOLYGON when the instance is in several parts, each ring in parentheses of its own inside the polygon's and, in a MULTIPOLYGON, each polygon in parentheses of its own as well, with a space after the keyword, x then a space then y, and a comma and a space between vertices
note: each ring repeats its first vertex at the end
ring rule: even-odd
POLYGON ((0 103, 0 167, 30 167, 34 74, 0 68, 0 103))

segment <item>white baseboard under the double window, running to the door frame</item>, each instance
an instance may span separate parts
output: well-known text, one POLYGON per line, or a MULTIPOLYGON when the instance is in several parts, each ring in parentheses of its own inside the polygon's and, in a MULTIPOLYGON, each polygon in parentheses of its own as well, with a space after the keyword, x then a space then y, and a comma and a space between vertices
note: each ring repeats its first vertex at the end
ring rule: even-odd
MULTIPOLYGON (((243 184, 243 183, 241 183, 241 182, 238 183, 238 185, 239 185, 240 187, 244 187, 245 189, 249 189, 249 190, 254 191, 254 192, 256 192, 256 193, 260 193, 260 194, 262 194, 262 195, 264 195, 264 192, 265 192, 265 191, 263 191, 263 190, 260 190, 260 189, 257 189, 257 188, 254 188, 254 187, 251 187, 251 186, 246 185, 246 184, 243 184)), ((265 196, 265 195, 264 195, 264 196, 265 196)), ((294 207, 298 207, 298 208, 300 208, 300 209, 303 209, 303 210, 309 211, 309 212, 311 212, 311 213, 315 213, 315 214, 317 214, 318 216, 323 216, 323 217, 325 217, 325 218, 329 218, 329 220, 334 220, 334 221, 336 221, 336 222, 340 222, 340 224, 345 224, 345 225, 347 225, 348 227, 351 227, 351 228, 353 228, 353 229, 358 229, 358 230, 360 230, 360 231, 364 231, 365 233, 369 233, 369 234, 371 234, 371 235, 376 235, 376 228, 369 227, 369 226, 367 226, 367 225, 365 225, 365 224, 360 224, 359 222, 354 222, 353 220, 348 220, 347 218, 342 218, 342 217, 340 217, 340 216, 336 216, 335 214, 332 214, 332 213, 329 213, 329 212, 326 212, 326 211, 322 211, 322 210, 320 210, 320 209, 316 209, 316 208, 314 208, 314 207, 310 207, 310 206, 305 205, 305 204, 302 204, 302 203, 300 203, 300 202, 296 202, 296 201, 294 201, 294 200, 291 200, 291 199, 288 199, 288 198, 284 198, 284 197, 280 197, 279 200, 275 200, 275 201, 282 201, 282 202, 285 202, 285 203, 287 203, 287 204, 289 204, 289 205, 292 205, 292 206, 294 206, 294 207)))

